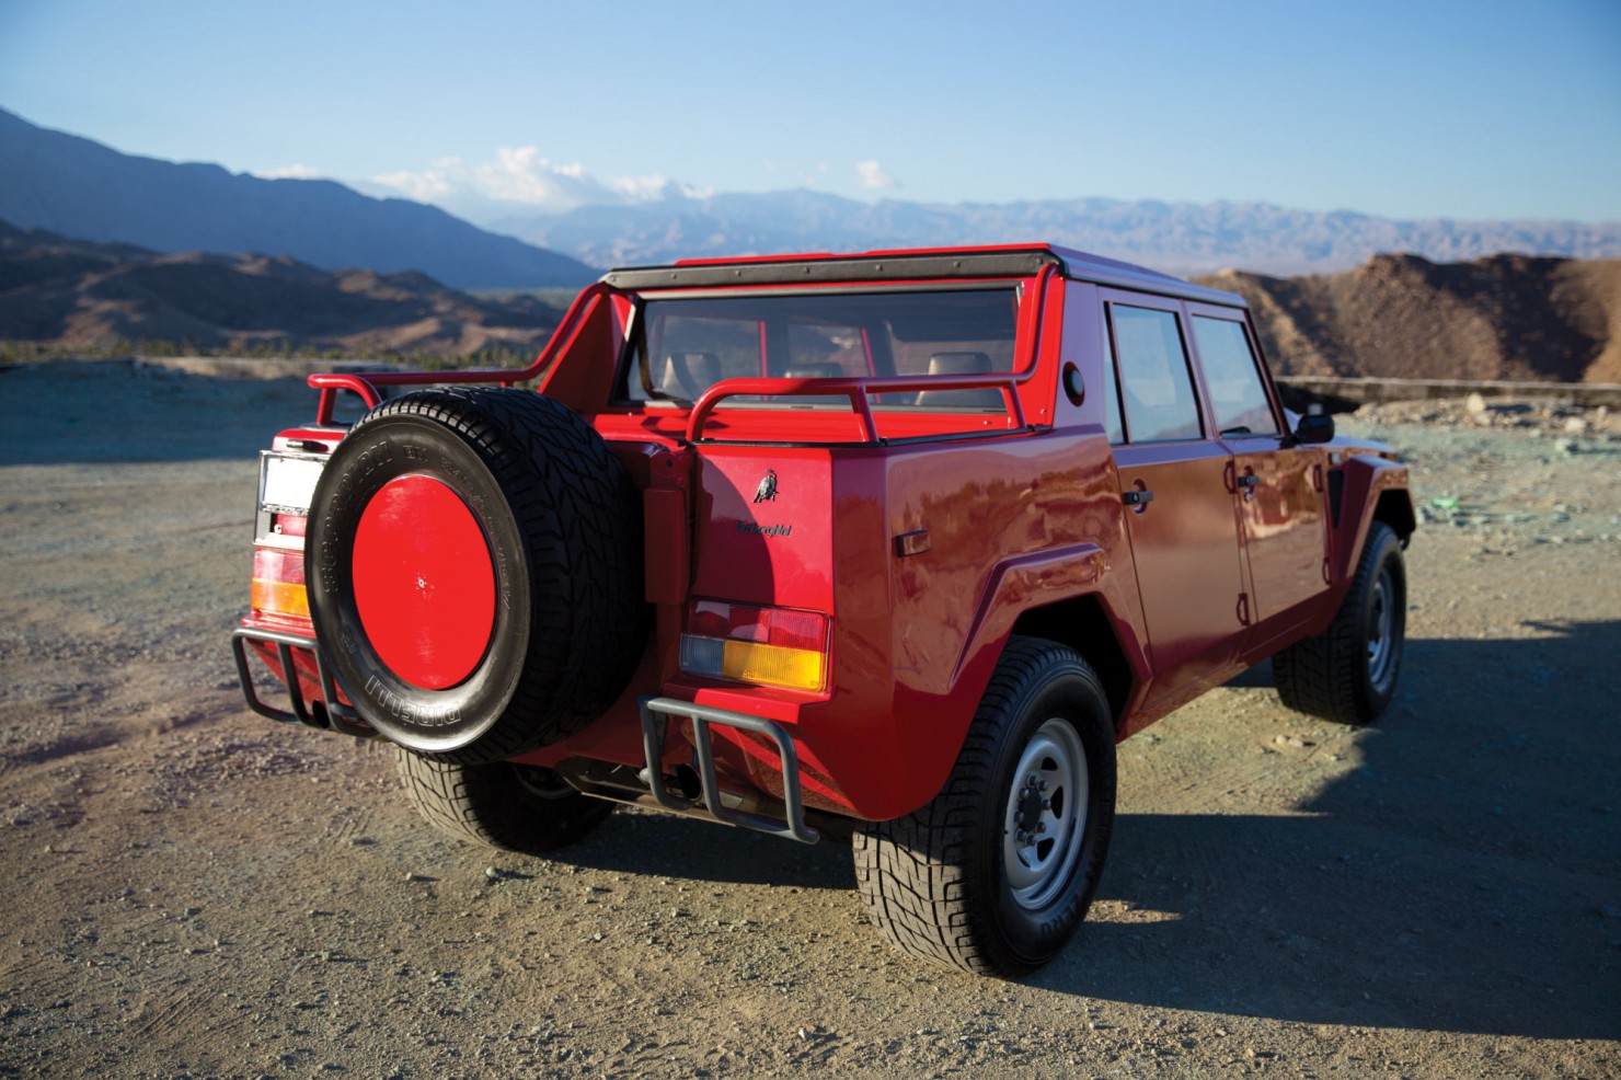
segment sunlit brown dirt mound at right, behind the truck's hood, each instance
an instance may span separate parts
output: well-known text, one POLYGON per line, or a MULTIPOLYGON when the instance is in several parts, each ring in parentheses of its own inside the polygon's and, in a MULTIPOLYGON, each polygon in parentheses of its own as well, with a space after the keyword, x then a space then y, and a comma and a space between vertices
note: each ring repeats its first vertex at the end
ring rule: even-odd
POLYGON ((1250 302, 1277 375, 1621 381, 1621 259, 1376 255, 1341 274, 1201 281, 1250 302))

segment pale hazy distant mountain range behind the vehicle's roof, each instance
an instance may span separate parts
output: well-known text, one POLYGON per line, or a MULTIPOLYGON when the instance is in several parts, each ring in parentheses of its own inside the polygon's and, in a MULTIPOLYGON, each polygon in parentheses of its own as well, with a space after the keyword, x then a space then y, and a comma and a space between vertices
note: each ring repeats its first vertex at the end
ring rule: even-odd
POLYGON ((686 196, 506 217, 491 229, 593 266, 778 251, 869 251, 961 243, 1059 243, 1170 274, 1242 268, 1266 274, 1349 269, 1381 251, 1431 261, 1499 251, 1621 256, 1621 222, 1391 221, 1266 203, 1060 199, 937 206, 858 203, 817 191, 686 196))

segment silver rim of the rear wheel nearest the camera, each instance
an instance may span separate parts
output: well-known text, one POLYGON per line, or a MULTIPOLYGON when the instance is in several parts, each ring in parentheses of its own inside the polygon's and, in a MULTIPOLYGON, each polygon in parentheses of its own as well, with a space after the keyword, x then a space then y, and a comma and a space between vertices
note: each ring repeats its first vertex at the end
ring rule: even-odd
POLYGON ((1047 720, 1020 756, 1002 821, 1002 869, 1021 908, 1047 906, 1068 884, 1089 786, 1081 736, 1067 720, 1047 720))

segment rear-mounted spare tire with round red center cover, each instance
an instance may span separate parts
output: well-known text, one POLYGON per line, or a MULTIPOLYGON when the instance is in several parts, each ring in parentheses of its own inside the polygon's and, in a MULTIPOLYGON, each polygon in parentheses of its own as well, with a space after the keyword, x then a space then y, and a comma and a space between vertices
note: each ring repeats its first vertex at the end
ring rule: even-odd
POLYGON ((368 412, 310 508, 310 618, 371 726, 493 762, 600 715, 647 637, 640 499, 567 405, 446 388, 368 412))

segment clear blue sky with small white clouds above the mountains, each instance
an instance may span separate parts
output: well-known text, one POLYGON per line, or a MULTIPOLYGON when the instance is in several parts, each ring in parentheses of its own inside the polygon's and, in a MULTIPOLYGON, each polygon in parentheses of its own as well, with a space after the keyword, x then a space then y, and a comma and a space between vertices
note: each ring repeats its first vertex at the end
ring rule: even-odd
POLYGON ((485 219, 674 185, 1621 221, 1621 0, 0 0, 0 107, 485 219))

